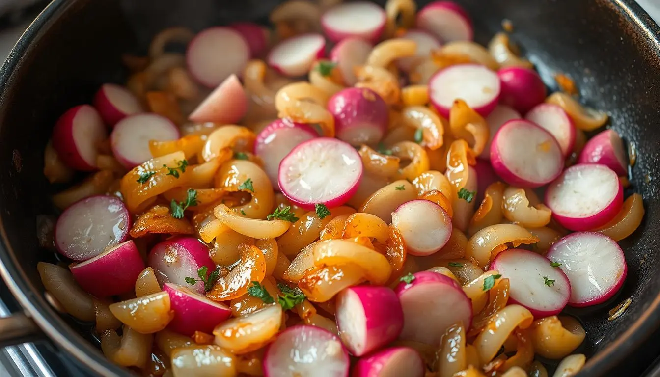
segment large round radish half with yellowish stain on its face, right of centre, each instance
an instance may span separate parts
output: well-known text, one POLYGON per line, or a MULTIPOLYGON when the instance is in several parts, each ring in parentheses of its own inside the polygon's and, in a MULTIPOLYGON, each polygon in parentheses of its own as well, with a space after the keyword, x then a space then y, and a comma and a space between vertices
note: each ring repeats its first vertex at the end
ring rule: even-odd
POLYGON ((512 120, 495 134, 490 164, 508 184, 537 188, 562 173, 564 156, 548 131, 531 121, 512 120))

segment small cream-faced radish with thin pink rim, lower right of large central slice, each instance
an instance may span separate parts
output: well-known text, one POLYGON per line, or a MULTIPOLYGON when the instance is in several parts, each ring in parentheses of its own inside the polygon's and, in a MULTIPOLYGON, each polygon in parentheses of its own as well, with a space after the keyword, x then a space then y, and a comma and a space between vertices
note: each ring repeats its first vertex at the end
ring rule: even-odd
POLYGON ((451 236, 451 217, 447 211, 424 199, 400 205, 392 213, 392 225, 401 232, 407 252, 413 256, 434 254, 451 236))

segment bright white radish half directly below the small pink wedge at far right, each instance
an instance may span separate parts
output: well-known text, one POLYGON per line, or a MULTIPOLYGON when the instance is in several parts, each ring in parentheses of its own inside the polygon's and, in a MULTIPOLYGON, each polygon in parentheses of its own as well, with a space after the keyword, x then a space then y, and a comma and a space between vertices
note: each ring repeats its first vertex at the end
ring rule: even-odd
POLYGON ((623 205, 623 187, 605 165, 577 164, 564 170, 545 192, 552 217, 570 230, 590 230, 614 219, 623 205))

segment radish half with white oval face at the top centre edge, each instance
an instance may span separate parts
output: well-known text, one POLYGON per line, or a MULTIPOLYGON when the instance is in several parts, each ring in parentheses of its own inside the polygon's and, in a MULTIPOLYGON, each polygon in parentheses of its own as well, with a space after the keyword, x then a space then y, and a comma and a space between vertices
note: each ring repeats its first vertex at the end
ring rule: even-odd
POLYGON ((341 3, 325 11, 321 26, 332 42, 357 37, 378 42, 385 29, 385 11, 369 1, 341 3))

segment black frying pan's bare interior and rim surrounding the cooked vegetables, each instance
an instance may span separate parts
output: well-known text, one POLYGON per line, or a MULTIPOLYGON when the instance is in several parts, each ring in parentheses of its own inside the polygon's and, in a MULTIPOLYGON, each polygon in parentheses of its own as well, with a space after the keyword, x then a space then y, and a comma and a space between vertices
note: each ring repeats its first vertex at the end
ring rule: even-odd
MULTIPOLYGON (((420 5, 428 1, 419 1, 420 5)), ((0 73, 0 259, 10 287, 46 332, 65 349, 104 375, 120 369, 67 327, 43 299, 36 263, 53 260, 40 250, 36 215, 52 213, 43 150, 57 117, 88 103, 98 85, 122 83, 122 52, 145 53, 150 38, 168 26, 206 26, 236 20, 266 22, 277 0, 77 0, 55 1, 26 32, 0 73)), ((381 1, 384 3, 384 1, 381 1)), ((628 279, 616 298, 597 308, 570 310, 587 329, 578 351, 594 355, 583 375, 597 376, 621 362, 660 322, 660 30, 632 0, 463 0, 472 15, 477 41, 486 43, 513 22, 513 40, 537 65, 550 87, 552 75, 576 79, 583 102, 609 112, 616 129, 638 151, 632 187, 644 195, 647 215, 622 242, 628 279), (614 322, 607 310, 626 298, 632 305, 614 322)), ((655 342, 654 342, 655 343, 655 342)), ((655 345, 657 347, 657 345, 655 345)), ((630 360, 630 359, 628 359, 630 360)), ((633 366, 631 366, 632 368, 633 366)), ((628 369, 630 372, 631 369, 628 369)))

